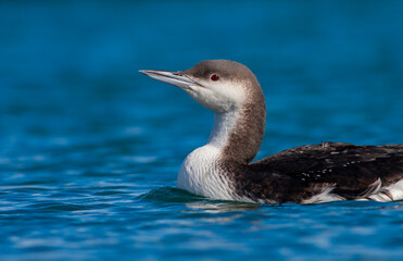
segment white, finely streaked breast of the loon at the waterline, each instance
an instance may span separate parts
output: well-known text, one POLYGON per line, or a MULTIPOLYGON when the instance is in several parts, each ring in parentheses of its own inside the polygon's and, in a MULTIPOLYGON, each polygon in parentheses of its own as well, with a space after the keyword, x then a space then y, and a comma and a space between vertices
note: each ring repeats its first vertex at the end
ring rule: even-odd
POLYGON ((181 164, 177 186, 209 198, 236 200, 228 176, 221 171, 219 153, 212 145, 191 152, 181 164))

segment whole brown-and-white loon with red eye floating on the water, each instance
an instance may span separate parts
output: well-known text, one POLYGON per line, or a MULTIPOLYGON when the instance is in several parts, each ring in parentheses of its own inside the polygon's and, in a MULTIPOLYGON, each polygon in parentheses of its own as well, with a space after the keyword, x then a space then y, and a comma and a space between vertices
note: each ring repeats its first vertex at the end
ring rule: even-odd
POLYGON ((207 144, 181 164, 180 189, 267 204, 403 199, 403 144, 323 142, 252 162, 262 144, 266 108, 257 78, 241 63, 207 60, 187 71, 139 72, 178 86, 215 113, 207 144))

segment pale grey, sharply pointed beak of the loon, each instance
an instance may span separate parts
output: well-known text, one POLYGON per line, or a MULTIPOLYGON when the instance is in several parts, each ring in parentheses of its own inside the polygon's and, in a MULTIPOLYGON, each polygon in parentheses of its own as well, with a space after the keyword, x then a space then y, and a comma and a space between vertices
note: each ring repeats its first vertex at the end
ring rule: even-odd
POLYGON ((194 80, 180 75, 179 72, 167 72, 167 71, 155 71, 155 70, 140 70, 140 73, 146 74, 147 76, 178 86, 181 89, 189 89, 190 86, 198 85, 194 80))

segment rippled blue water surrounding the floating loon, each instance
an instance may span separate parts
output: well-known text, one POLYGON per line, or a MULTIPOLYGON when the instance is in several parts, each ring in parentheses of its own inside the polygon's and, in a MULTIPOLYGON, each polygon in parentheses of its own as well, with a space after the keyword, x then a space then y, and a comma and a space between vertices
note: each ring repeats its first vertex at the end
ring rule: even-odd
POLYGON ((137 73, 257 75, 257 158, 403 142, 402 1, 1 1, 0 260, 401 260, 402 202, 259 206, 176 189, 213 114, 137 73))

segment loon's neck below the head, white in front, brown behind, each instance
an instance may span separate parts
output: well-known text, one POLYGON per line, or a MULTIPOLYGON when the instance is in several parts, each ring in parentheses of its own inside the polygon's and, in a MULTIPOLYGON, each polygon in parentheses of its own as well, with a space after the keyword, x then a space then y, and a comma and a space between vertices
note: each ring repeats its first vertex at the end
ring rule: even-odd
MULTIPOLYGON (((263 96, 262 96, 263 97, 263 96)), ((257 154, 265 127, 264 98, 215 114, 209 145, 221 150, 222 159, 249 164, 257 154)))

